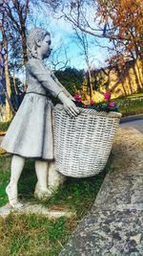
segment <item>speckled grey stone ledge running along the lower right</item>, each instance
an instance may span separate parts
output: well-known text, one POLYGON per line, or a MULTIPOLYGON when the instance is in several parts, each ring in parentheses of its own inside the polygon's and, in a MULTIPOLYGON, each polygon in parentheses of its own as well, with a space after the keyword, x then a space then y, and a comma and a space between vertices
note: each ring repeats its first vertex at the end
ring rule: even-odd
POLYGON ((143 255, 143 135, 118 130, 106 176, 92 212, 73 232, 60 256, 143 255))

